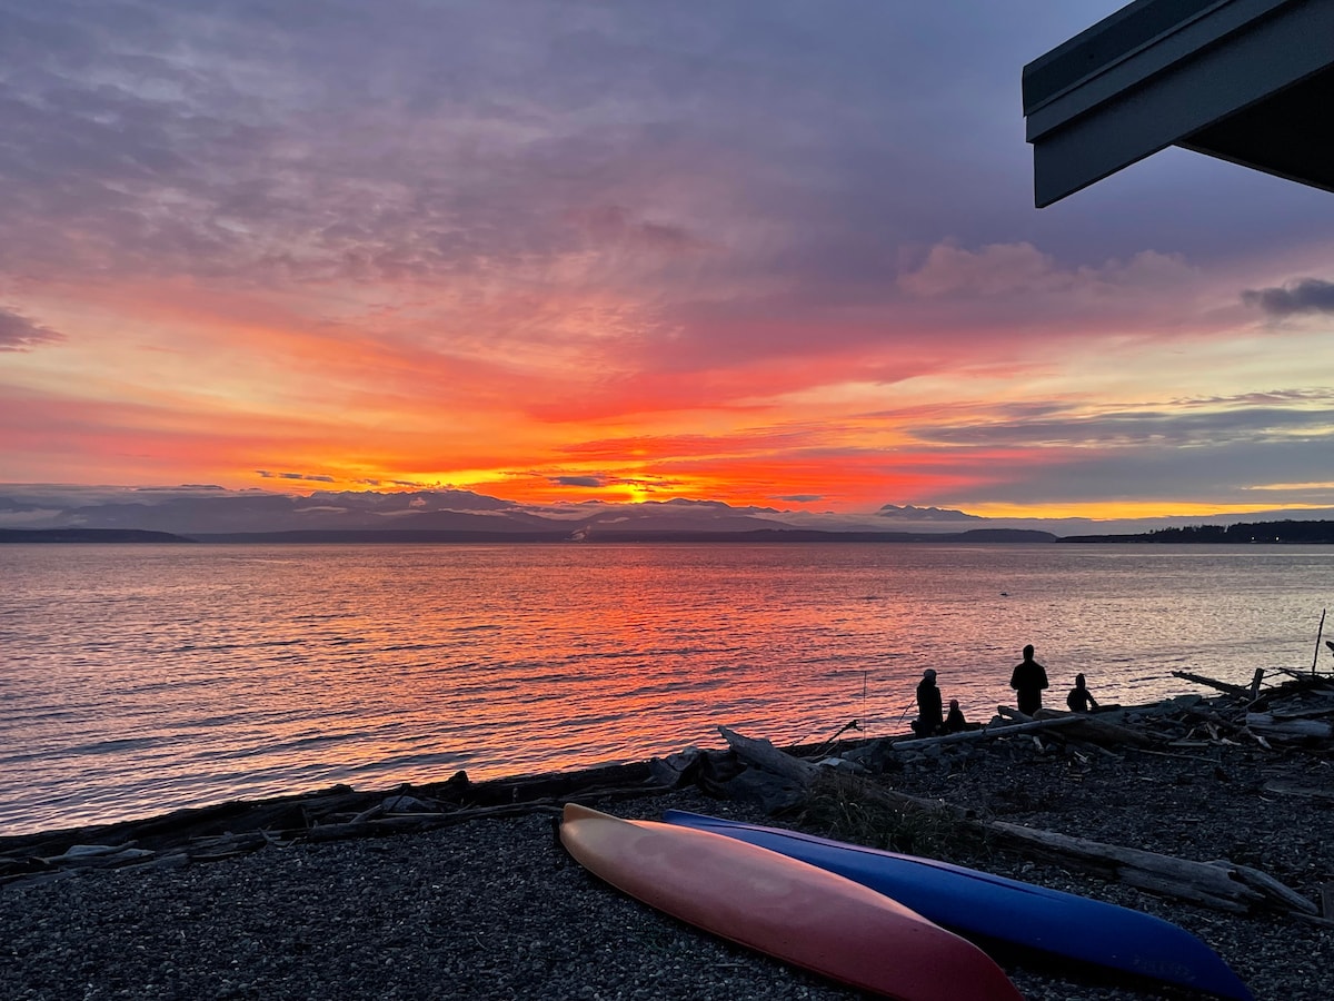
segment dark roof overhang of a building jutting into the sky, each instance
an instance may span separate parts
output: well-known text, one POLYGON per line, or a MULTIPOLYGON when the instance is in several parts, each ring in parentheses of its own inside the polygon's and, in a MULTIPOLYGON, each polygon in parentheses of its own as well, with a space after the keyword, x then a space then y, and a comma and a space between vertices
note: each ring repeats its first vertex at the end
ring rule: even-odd
POLYGON ((1039 208, 1169 145, 1334 191, 1334 0, 1135 0, 1023 68, 1039 208))

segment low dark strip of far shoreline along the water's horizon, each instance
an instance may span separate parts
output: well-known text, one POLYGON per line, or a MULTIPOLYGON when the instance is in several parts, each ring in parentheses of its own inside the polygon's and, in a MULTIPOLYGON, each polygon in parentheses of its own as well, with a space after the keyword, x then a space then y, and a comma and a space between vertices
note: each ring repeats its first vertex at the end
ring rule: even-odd
POLYGON ((1334 521, 1251 522, 1229 526, 1161 529, 1138 535, 1054 535, 1031 529, 968 529, 958 533, 823 531, 819 529, 752 529, 744 531, 680 530, 534 530, 479 531, 450 529, 303 529, 251 533, 169 533, 144 529, 0 529, 0 543, 224 543, 224 545, 430 545, 430 543, 984 543, 984 545, 1334 545, 1334 521), (574 533, 584 531, 579 538, 574 533))

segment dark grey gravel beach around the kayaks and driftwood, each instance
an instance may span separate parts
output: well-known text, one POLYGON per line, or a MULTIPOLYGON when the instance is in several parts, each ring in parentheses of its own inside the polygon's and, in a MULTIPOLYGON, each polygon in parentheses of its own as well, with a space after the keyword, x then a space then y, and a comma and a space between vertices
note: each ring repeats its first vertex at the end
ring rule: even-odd
MULTIPOLYGON (((883 777, 1046 830, 1197 861, 1243 862, 1319 901, 1334 880, 1327 751, 1214 746, 1190 755, 1075 754, 1034 741, 915 758, 883 777)), ((696 789, 591 803, 766 818, 696 789)), ((824 831, 816 831, 824 833, 824 831)), ((1135 908, 1215 949, 1261 1001, 1334 998, 1334 926, 1162 900, 1000 853, 950 861, 1135 908)), ((1006 965, 1031 1001, 1183 993, 1006 965)), ((552 815, 331 844, 175 869, 113 869, 0 889, 0 997, 851 998, 856 993, 695 932, 570 861, 552 815)))

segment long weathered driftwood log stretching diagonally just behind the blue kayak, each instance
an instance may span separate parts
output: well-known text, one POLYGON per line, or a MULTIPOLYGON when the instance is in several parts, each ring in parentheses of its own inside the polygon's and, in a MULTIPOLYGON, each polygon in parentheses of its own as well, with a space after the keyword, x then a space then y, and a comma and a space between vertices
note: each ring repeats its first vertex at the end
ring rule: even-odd
MULTIPOLYGON (((1042 721, 1046 722, 1046 721, 1042 721)), ((748 765, 810 789, 828 769, 792 757, 770 741, 752 739, 719 727, 723 739, 748 765)), ((1295 890, 1249 866, 1233 862, 1193 862, 1155 852, 1105 845, 1085 838, 1055 834, 1017 823, 986 822, 970 811, 940 801, 918 799, 856 775, 836 773, 844 790, 867 801, 879 801, 900 810, 947 817, 1002 848, 1027 857, 1119 880, 1163 897, 1174 897, 1221 910, 1279 912, 1315 918, 1319 908, 1295 890)))

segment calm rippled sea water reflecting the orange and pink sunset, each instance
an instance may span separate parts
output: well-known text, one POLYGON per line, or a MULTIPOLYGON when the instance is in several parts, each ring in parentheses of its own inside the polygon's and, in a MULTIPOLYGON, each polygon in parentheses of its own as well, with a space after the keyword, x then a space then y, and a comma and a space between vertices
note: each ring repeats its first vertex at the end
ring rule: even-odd
MULTIPOLYGON (((1334 549, 4 546, 0 833, 1310 669, 1334 549)), ((1326 637, 1334 635, 1334 621, 1326 637)), ((1325 654, 1325 661, 1329 655, 1325 654)), ((1326 669, 1330 665, 1323 665, 1326 669)))

